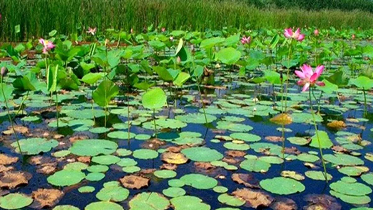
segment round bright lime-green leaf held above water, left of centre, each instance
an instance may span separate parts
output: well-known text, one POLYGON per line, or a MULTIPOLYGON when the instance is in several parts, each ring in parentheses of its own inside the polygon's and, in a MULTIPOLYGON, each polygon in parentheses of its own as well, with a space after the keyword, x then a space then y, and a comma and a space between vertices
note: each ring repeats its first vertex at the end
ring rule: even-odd
POLYGON ((166 104, 166 99, 166 93, 159 87, 156 87, 142 95, 142 105, 148 109, 159 109, 166 104))

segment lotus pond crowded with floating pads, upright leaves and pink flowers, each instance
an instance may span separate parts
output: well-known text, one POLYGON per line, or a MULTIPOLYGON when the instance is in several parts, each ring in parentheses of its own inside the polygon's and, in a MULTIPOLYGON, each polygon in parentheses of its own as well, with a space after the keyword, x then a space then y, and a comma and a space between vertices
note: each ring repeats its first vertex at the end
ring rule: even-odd
POLYGON ((370 36, 3 43, 0 209, 372 209, 370 36))

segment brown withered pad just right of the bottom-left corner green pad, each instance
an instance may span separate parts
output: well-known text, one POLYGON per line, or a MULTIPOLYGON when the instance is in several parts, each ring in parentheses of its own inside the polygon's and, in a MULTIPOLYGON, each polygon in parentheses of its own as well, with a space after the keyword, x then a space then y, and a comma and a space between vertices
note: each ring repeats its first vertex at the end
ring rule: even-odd
POLYGON ((31 208, 44 209, 55 206, 63 197, 63 192, 58 189, 37 189, 31 194, 34 198, 34 203, 31 208))

